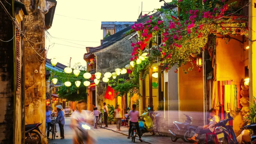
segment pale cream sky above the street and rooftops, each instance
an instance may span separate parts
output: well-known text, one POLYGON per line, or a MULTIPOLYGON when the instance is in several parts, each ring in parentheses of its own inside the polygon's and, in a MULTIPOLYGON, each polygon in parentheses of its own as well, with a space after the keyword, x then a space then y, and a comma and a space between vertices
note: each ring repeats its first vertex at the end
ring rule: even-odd
MULTIPOLYGON (((166 0, 166 2, 170 1, 166 0)), ((143 2, 142 11, 145 11, 143 14, 164 5, 164 2, 159 2, 159 0, 57 0, 53 24, 48 32, 53 37, 63 39, 51 38, 48 35, 50 41, 46 40, 46 47, 52 43, 55 45, 50 46, 47 58, 55 57, 58 62, 68 66, 69 59, 72 57, 71 67, 77 62, 86 65, 83 59, 86 53, 85 48, 99 46, 100 40, 103 39, 101 22, 136 21, 141 12, 141 2, 143 2)))

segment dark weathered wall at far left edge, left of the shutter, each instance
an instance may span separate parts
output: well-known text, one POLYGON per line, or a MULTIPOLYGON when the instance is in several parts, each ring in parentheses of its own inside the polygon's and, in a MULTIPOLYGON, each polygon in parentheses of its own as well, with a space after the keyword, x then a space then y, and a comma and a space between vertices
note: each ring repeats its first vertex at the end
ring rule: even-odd
MULTIPOLYGON (((10 2, 10 1, 8 1, 10 2)), ((5 7, 9 7, 2 1, 5 7)), ((10 2, 12 4, 12 2, 10 2)), ((12 7, 10 11, 12 14, 12 7)), ((0 8, 0 39, 8 41, 13 37, 13 25, 0 8)), ((13 143, 14 134, 14 42, 0 41, 0 143, 13 143)))

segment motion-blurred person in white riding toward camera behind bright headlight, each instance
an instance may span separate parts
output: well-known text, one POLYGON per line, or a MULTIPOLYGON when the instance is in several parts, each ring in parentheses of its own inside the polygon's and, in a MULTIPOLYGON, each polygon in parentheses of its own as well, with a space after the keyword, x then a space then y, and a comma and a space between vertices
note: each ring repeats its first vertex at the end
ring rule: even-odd
POLYGON ((86 108, 86 102, 81 100, 78 102, 78 110, 74 111, 71 116, 71 125, 73 129, 73 144, 80 143, 94 143, 94 139, 90 136, 87 130, 90 130, 90 127, 86 124, 88 121, 92 120, 90 117, 90 112, 84 110, 86 108), (86 128, 86 129, 84 129, 86 128), (85 130, 85 131, 84 131, 85 130))

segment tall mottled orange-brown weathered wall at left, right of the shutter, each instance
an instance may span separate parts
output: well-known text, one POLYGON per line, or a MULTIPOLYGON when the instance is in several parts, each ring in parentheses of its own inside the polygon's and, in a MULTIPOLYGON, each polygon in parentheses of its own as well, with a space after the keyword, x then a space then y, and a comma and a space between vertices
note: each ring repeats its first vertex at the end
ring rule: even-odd
MULTIPOLYGON (((25 1, 29 15, 26 16, 25 37, 25 121, 26 124, 43 123, 40 127, 45 134, 45 13, 54 3, 46 0, 25 1), (39 9, 38 9, 39 6, 39 9), (32 42, 31 42, 32 41, 32 42), (38 43, 38 44, 37 44, 38 43), (33 48, 36 48, 34 50, 33 48), (38 49, 41 48, 41 49, 38 49)), ((47 139, 42 138, 42 143, 47 139)))

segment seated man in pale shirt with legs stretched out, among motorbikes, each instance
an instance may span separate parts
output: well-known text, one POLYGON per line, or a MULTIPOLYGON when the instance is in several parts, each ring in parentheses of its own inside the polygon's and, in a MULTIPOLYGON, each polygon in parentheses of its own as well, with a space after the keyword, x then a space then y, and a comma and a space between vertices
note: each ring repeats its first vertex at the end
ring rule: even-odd
MULTIPOLYGON (((218 116, 216 116, 216 111, 214 109, 210 109, 209 111, 209 120, 210 120, 210 123, 208 125, 205 125, 205 126, 199 126, 194 134, 193 137, 189 138, 188 140, 192 140, 192 141, 195 141, 195 143, 197 143, 197 137, 198 135, 200 134, 206 134, 206 133, 212 133, 213 130, 214 130, 214 126, 215 124, 217 124, 219 121, 220 121, 220 118, 218 116)), ((195 144, 194 143, 194 144, 195 144)))

